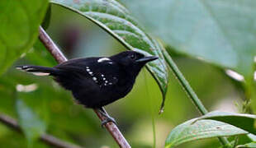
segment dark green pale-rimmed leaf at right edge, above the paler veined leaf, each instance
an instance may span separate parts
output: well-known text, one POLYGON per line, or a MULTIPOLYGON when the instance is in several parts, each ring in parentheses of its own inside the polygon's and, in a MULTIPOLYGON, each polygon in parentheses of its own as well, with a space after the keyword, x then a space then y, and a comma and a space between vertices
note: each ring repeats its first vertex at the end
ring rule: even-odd
POLYGON ((253 114, 213 111, 198 118, 198 120, 201 119, 212 119, 223 123, 229 123, 244 131, 256 134, 256 129, 254 128, 254 120, 256 119, 256 116, 253 114))

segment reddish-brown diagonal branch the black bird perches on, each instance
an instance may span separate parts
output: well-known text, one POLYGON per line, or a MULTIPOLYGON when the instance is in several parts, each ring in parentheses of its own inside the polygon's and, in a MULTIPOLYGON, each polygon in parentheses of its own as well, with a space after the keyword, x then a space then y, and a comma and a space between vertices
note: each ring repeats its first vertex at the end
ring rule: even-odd
MULTIPOLYGON (((42 27, 40 27, 39 39, 43 44, 45 44, 45 48, 51 53, 51 55, 56 59, 57 62, 60 63, 67 61, 67 58, 64 57, 64 54, 61 53, 57 45, 52 41, 52 39, 50 39, 50 36, 46 34, 45 30, 42 27)), ((97 109, 94 109, 94 112, 97 113, 97 117, 100 118, 101 121, 106 119, 97 109)), ((107 112, 105 111, 105 113, 107 112)), ((126 138, 121 134, 118 127, 116 127, 116 124, 107 123, 106 128, 121 148, 130 148, 129 143, 126 141, 126 138)))

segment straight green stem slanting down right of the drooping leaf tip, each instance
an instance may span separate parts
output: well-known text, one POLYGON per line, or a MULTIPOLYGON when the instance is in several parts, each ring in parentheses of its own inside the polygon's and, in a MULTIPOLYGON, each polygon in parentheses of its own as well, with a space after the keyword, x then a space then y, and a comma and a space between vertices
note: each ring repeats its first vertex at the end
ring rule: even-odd
MULTIPOLYGON (((183 89, 186 91, 187 95, 189 98, 192 100, 193 104, 197 107, 199 112, 201 114, 206 114, 208 113, 206 107, 201 103, 201 100, 197 97, 197 94, 195 93, 194 90, 192 90, 192 87, 189 85, 185 77, 183 76, 183 73, 179 71, 177 65, 175 62, 173 62, 173 59, 171 56, 167 53, 166 50, 164 50, 164 58, 166 59, 169 67, 171 67, 174 75, 178 78, 178 81, 180 84, 183 86, 183 89)), ((219 141, 223 146, 228 146, 231 147, 230 142, 227 140, 225 137, 218 137, 219 141)))

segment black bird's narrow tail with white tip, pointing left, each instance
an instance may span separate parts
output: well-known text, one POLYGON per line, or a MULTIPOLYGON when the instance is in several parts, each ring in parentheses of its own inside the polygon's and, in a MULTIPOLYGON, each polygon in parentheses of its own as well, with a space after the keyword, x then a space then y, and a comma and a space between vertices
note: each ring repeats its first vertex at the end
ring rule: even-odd
POLYGON ((40 67, 40 66, 31 66, 31 65, 24 65, 24 66, 17 66, 17 69, 25 72, 30 72, 36 76, 49 76, 49 75, 58 75, 59 69, 55 67, 40 67))

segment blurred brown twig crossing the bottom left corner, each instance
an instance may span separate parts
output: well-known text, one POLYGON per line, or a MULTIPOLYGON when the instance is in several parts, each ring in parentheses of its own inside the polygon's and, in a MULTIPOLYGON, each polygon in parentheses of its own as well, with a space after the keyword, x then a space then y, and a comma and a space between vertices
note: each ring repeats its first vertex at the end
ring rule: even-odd
MULTIPOLYGON (((13 118, 8 117, 7 115, 4 115, 0 113, 0 122, 4 123, 8 127, 12 127, 15 129, 17 132, 21 132, 21 127, 18 125, 17 121, 13 118)), ((76 146, 73 144, 70 144, 65 141, 61 141, 55 136, 51 136, 48 134, 43 134, 40 136, 40 141, 44 141, 46 144, 50 146, 55 146, 58 148, 81 148, 80 146, 76 146)))

